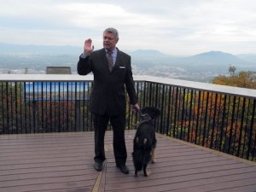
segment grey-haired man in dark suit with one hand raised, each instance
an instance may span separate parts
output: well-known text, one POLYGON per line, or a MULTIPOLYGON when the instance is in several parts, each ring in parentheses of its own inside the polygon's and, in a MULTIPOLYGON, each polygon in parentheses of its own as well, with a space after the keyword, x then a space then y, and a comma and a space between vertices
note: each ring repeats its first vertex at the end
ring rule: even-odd
POLYGON ((90 96, 90 112, 93 113, 95 129, 96 171, 102 171, 105 157, 104 136, 108 121, 113 127, 113 152, 116 166, 128 174, 125 166, 127 152, 125 147, 125 88, 133 108, 139 110, 136 91, 131 72, 131 56, 116 48, 119 33, 114 28, 103 32, 103 49, 94 50, 92 40, 84 42, 84 53, 78 62, 79 75, 90 72, 94 75, 93 90, 90 96))

